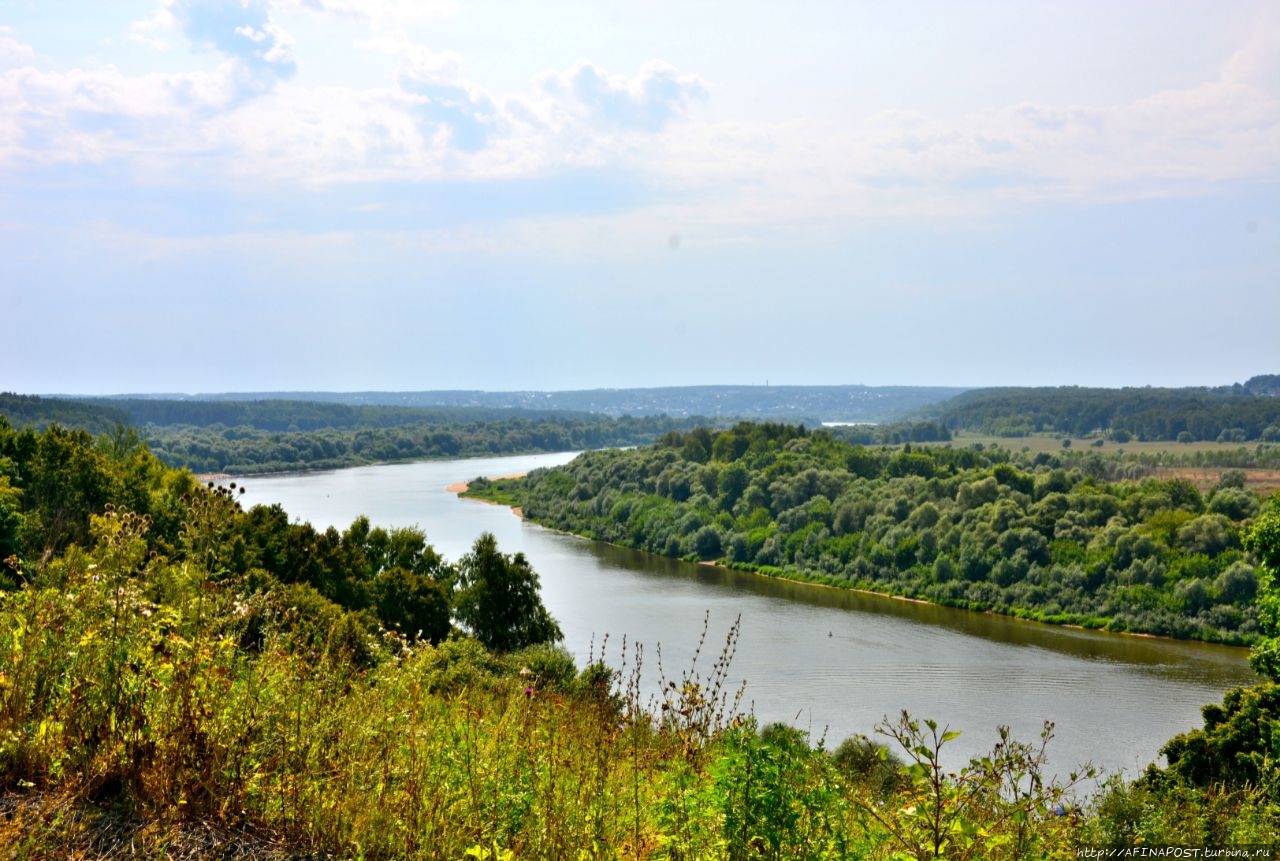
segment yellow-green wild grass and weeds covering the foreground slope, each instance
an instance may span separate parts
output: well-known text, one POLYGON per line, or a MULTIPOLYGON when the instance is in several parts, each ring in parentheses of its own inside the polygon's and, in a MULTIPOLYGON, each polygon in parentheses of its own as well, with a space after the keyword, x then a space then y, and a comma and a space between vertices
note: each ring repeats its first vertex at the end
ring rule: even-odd
POLYGON ((1149 841, 1170 811, 1257 837, 1276 810, 1251 789, 1161 812, 1121 782, 1060 815, 1088 802, 1044 774, 1050 728, 948 771, 955 733, 905 714, 835 755, 756 727, 727 684, 736 626, 645 701, 634 650, 579 670, 552 646, 410 646, 323 622, 305 587, 150 554, 146 518, 92 528, 0 594, 6 858, 212 858, 242 835, 252 857, 1012 861, 1149 841))

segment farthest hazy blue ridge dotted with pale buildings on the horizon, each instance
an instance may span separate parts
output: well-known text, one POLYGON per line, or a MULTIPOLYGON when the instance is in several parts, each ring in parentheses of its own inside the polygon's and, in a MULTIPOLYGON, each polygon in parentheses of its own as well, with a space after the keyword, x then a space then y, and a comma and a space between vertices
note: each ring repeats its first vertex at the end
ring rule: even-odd
MULTIPOLYGON (((246 391, 198 395, 123 395, 136 415, 141 402, 289 400, 347 407, 476 407, 593 412, 605 416, 708 416, 820 422, 890 422, 965 391, 947 386, 700 385, 575 391, 246 391)), ((86 400, 84 398, 78 398, 86 400)), ((113 403, 113 399, 91 399, 113 403)), ((155 408, 159 409, 159 408, 155 408)))

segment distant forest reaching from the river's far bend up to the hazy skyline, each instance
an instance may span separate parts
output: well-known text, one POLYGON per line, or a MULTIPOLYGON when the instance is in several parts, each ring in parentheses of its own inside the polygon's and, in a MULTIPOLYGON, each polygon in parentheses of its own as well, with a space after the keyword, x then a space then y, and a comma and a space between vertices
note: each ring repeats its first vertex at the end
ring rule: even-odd
POLYGON ((671 430, 723 429, 742 418, 826 422, 833 436, 861 445, 937 443, 957 432, 1088 438, 1094 445, 1267 444, 1280 440, 1277 390, 1280 377, 1260 375, 1181 389, 675 386, 76 399, 0 393, 0 415, 17 427, 133 429, 169 466, 255 475, 645 445, 671 430))

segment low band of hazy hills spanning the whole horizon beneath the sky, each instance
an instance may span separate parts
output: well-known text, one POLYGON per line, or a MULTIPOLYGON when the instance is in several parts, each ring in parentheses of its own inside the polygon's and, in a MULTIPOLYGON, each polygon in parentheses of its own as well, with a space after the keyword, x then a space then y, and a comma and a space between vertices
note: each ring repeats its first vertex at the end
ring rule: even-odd
MULTIPOLYGON (((1280 440, 1280 375, 1212 388, 760 386, 701 385, 572 391, 246 391, 197 395, 0 397, 15 425, 51 421, 93 432, 118 423, 253 427, 262 431, 393 429, 422 422, 705 417, 888 425, 924 420, 998 436, 1053 432, 1148 440, 1280 440)), ((846 435, 856 431, 847 430, 846 435)), ((936 435, 931 435, 933 439, 936 435)), ((945 435, 942 436, 945 439, 945 435)), ((906 436, 904 439, 913 439, 906 436)))

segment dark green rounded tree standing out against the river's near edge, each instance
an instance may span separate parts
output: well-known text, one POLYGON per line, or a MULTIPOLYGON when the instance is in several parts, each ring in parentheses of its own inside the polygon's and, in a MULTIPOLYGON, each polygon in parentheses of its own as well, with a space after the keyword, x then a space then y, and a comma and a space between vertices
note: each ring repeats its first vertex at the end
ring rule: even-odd
POLYGON ((476 640, 495 651, 563 640, 559 624, 543 605, 539 585, 525 554, 499 553, 498 540, 485 532, 458 562, 453 613, 476 640))

